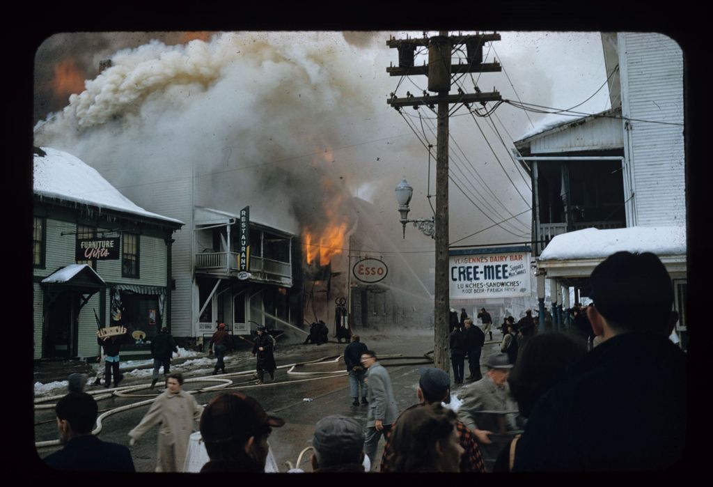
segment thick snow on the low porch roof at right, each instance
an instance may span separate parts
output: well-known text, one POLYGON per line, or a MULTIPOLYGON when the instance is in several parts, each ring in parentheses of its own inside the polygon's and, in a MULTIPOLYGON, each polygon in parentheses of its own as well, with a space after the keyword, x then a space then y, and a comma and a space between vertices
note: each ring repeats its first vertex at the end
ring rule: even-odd
POLYGON ((554 237, 539 260, 597 259, 614 252, 686 253, 686 227, 585 228, 554 237))

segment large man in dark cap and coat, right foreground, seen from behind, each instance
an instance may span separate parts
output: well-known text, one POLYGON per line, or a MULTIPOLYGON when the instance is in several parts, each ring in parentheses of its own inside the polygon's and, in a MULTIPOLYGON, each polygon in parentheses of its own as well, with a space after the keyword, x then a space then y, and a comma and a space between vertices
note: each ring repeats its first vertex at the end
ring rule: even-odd
POLYGON ((683 456, 686 357, 668 339, 678 314, 666 267, 650 252, 616 252, 590 285, 601 342, 537 402, 513 471, 652 470, 683 456))

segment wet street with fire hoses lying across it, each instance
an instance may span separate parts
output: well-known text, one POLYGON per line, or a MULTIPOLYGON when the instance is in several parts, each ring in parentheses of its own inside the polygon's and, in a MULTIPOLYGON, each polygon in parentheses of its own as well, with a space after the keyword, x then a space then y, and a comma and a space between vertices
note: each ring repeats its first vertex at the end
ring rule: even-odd
MULTIPOLYGON (((413 329, 400 332, 398 336, 384 333, 361 331, 361 342, 379 356, 379 362, 386 366, 394 386, 394 395, 399 411, 416 403, 416 386, 419 380, 417 369, 431 364, 433 350, 433 332, 428 329, 413 329), (426 356, 426 354, 429 354, 426 356)), ((489 354, 496 352, 500 332, 493 334, 493 342, 486 342, 483 347, 481 363, 489 354)), ((332 339, 333 340, 333 339, 332 339)), ((329 414, 352 416, 366 424, 367 406, 352 406, 349 394, 349 381, 344 362, 337 359, 344 352, 346 344, 329 342, 322 345, 282 344, 277 342, 275 359, 278 369, 275 381, 257 385, 252 371, 255 358, 248 350, 232 352, 226 357, 227 374, 212 376, 212 365, 205 359, 189 360, 176 364, 172 371, 180 371, 185 376, 183 389, 195 391, 199 404, 207 404, 222 391, 235 390, 255 397, 269 414, 285 420, 282 428, 272 431, 269 442, 279 471, 293 466, 300 452, 309 446, 314 433, 314 424, 329 414)), ((467 369, 467 364, 466 364, 467 369)), ((133 378, 126 374, 120 390, 104 389, 103 386, 90 386, 99 404, 101 431, 99 437, 128 446, 128 431, 136 426, 143 417, 150 401, 163 387, 148 389, 148 378, 133 378), (98 391, 98 392, 97 392, 98 391), (106 391, 106 392, 105 392, 106 391), (145 404, 142 404, 144 403, 145 404), (137 404, 137 406, 131 406, 137 404), (117 410, 118 409, 118 410, 117 410), (109 413, 109 411, 116 411, 109 413), (102 417, 102 414, 107 416, 102 417)), ((466 384, 467 385, 467 384, 466 384)), ((455 389, 452 392, 456 392, 455 389)), ((56 394, 63 394, 58 391, 56 394)), ((35 411, 35 439, 37 442, 52 441, 57 438, 54 412, 51 407, 54 400, 40 403, 35 411)), ((140 472, 150 472, 155 468, 158 426, 154 427, 130 447, 135 468, 140 472)), ((381 456, 383 440, 380 441, 377 458, 381 456)), ((56 451, 58 445, 40 446, 40 457, 56 451)), ((310 471, 309 453, 299 465, 310 471)))

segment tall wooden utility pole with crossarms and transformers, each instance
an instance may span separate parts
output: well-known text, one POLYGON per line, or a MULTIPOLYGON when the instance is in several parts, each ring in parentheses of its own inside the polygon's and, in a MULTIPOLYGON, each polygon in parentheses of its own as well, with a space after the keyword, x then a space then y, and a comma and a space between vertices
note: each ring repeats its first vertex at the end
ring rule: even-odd
POLYGON ((430 96, 424 91, 422 97, 406 93, 406 98, 396 98, 394 93, 386 103, 401 111, 404 106, 428 106, 434 109, 438 105, 438 123, 436 137, 436 277, 434 297, 434 363, 443 371, 449 372, 451 362, 448 353, 448 321, 450 310, 450 291, 448 282, 448 111, 451 103, 463 103, 470 108, 470 103, 483 103, 501 100, 500 93, 494 90, 484 93, 473 86, 476 93, 451 95, 451 75, 453 73, 479 73, 501 71, 497 62, 483 63, 483 43, 499 41, 500 34, 476 34, 468 36, 448 36, 448 31, 440 31, 438 36, 423 39, 389 39, 386 45, 399 50, 399 67, 390 66, 386 72, 391 76, 426 75, 429 78, 428 90, 438 93, 430 96), (451 55, 454 46, 466 46, 467 63, 453 65, 451 55), (414 66, 415 51, 418 46, 429 49, 428 66, 414 66))

